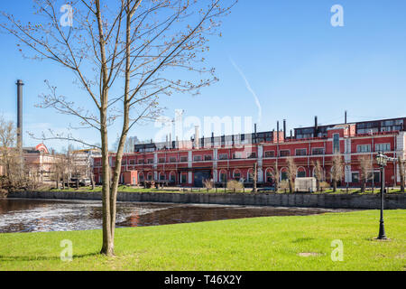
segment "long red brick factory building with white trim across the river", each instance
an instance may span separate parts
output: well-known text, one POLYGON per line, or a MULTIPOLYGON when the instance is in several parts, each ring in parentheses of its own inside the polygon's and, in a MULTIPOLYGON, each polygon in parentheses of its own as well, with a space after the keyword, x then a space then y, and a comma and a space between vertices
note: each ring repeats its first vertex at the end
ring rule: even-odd
MULTIPOLYGON (((284 126, 286 127, 286 126, 284 126)), ((270 131, 245 135, 223 135, 192 139, 188 142, 137 144, 134 154, 125 154, 122 172, 136 173, 138 178, 122 178, 126 184, 143 181, 166 181, 173 185, 202 185, 203 180, 245 179, 252 182, 254 163, 258 168, 258 184, 272 185, 272 171, 277 163, 281 180, 286 178, 287 160, 293 158, 298 166, 297 177, 313 176, 313 163, 319 161, 327 182, 331 181, 332 159, 343 158, 344 177, 341 186, 359 186, 359 158, 371 157, 382 151, 391 157, 405 157, 406 118, 384 119, 352 124, 296 128, 294 136, 284 131, 270 131), (278 137, 279 136, 279 137, 278 137), (126 180, 125 180, 126 179, 126 180), (125 182, 126 181, 126 182, 125 182)), ((115 156, 110 156, 114 165, 115 156)), ((102 182, 101 160, 95 159, 97 182, 102 182)), ((396 163, 388 163, 386 183, 400 182, 396 163)), ((128 173, 124 173, 126 176, 128 173)), ((374 162, 374 180, 380 182, 379 168, 374 162)))

